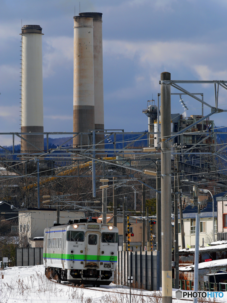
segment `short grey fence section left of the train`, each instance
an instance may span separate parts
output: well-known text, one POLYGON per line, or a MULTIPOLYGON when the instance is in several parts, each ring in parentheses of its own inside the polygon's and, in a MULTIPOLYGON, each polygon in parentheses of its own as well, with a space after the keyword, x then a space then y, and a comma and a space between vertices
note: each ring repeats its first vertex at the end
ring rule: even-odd
POLYGON ((16 266, 43 264, 43 248, 16 248, 16 266))

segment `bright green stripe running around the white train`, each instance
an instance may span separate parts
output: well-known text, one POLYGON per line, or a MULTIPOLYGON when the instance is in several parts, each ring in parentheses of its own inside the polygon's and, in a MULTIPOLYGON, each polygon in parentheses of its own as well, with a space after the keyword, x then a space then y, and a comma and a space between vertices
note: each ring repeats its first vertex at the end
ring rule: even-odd
POLYGON ((97 255, 68 255, 68 254, 46 254, 46 253, 43 253, 43 258, 54 258, 54 259, 68 259, 68 260, 97 260, 97 257, 99 261, 110 261, 110 258, 111 258, 111 261, 117 261, 117 256, 104 256, 104 255, 100 255, 100 256, 97 256, 97 255))

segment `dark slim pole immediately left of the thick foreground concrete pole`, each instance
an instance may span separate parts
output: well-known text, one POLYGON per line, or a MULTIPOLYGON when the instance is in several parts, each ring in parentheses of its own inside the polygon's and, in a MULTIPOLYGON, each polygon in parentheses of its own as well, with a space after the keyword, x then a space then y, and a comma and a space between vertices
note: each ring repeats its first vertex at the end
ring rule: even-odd
MULTIPOLYGON (((159 112, 158 112, 159 115, 159 112)), ((161 159, 156 160, 156 190, 161 191, 161 159)), ((162 237, 161 237, 161 231, 162 231, 162 207, 161 207, 161 193, 156 192, 156 249, 159 251, 159 277, 160 285, 162 283, 162 237)), ((159 290, 159 289, 158 289, 159 290)))

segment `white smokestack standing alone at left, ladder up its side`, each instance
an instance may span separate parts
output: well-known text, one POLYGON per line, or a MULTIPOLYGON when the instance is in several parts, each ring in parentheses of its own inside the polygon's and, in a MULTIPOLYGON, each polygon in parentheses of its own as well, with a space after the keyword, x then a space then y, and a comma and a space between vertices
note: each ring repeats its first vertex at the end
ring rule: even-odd
MULTIPOLYGON (((21 31, 21 132, 43 132, 42 28, 24 25, 21 31)), ((43 135, 23 138, 44 149, 43 135)), ((21 151, 35 150, 21 139, 21 151)))

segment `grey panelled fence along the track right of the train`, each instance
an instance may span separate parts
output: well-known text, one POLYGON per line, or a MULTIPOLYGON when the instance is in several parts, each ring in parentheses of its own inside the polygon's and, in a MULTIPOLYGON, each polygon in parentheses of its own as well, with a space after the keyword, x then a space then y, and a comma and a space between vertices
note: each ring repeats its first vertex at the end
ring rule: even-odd
POLYGON ((114 282, 129 285, 127 278, 133 276, 135 287, 159 290, 159 268, 159 251, 118 251, 114 282))

